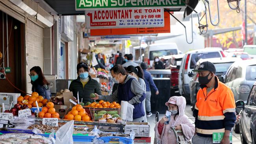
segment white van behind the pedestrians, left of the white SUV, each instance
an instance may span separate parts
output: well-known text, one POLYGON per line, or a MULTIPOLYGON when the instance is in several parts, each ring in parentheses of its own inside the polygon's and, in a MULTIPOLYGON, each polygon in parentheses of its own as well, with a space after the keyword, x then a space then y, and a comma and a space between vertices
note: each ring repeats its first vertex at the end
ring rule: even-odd
POLYGON ((178 46, 176 43, 150 44, 145 48, 145 54, 147 57, 144 60, 152 66, 155 57, 178 54, 178 46))

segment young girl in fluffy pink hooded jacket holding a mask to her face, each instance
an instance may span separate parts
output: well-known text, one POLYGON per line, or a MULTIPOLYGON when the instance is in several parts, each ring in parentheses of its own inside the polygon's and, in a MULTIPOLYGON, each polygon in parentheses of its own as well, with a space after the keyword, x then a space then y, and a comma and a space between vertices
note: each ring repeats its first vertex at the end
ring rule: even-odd
POLYGON ((195 133, 195 125, 185 115, 186 99, 183 96, 172 96, 168 102, 165 103, 171 112, 171 120, 169 124, 165 124, 168 118, 164 116, 155 126, 155 136, 160 141, 160 144, 176 144, 176 137, 171 127, 178 135, 184 135, 186 140, 190 140, 195 133))

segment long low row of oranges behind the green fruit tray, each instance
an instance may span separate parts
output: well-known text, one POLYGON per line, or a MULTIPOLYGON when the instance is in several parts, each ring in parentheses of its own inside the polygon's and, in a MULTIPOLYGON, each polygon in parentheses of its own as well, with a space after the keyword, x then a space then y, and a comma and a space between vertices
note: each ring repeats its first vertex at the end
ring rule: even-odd
POLYGON ((120 104, 117 102, 104 102, 104 100, 100 100, 100 102, 87 102, 85 103, 85 107, 91 107, 91 108, 120 108, 120 104))

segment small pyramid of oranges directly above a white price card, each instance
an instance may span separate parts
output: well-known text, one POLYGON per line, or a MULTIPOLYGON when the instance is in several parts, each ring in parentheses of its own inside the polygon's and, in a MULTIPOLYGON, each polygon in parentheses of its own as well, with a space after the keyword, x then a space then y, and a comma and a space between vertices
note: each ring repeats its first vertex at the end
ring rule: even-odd
POLYGON ((59 113, 54 109, 54 103, 48 102, 46 107, 42 108, 42 111, 38 113, 40 118, 59 118, 59 113))

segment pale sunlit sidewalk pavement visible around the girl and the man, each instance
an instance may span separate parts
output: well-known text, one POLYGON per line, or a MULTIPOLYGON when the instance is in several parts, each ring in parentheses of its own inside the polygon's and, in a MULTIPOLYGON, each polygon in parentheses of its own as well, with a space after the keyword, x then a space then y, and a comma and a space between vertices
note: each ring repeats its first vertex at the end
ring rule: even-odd
MULTIPOLYGON (((187 115, 189 118, 194 118, 193 115, 192 115, 192 111, 191 111, 191 109, 190 109, 190 105, 187 105, 187 106, 186 106, 185 111, 186 111, 186 112, 185 112, 186 115, 187 115)), ((164 114, 160 114, 159 120, 161 120, 161 118, 162 118, 163 116, 164 116, 164 114)), ((147 117, 148 123, 149 123, 149 125, 150 125, 151 144, 154 143, 154 137, 155 137, 155 131, 154 131, 154 127, 155 127, 155 125, 156 125, 155 117, 156 117, 155 114, 152 114, 152 116, 147 117)), ((232 144, 241 144, 240 135, 239 135, 239 134, 236 134, 234 131, 233 131, 232 140, 233 140, 233 143, 232 143, 232 144)))

